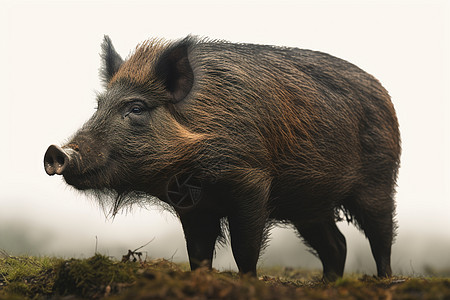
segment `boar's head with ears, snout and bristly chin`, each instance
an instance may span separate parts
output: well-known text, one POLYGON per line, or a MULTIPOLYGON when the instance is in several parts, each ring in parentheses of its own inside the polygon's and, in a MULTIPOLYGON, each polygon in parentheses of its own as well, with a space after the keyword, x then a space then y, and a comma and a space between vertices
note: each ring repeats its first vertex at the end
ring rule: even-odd
MULTIPOLYGON (((113 213, 133 195, 164 198, 170 178, 192 170, 205 135, 183 125, 177 106, 191 92, 192 38, 151 40, 122 60, 109 37, 102 44, 105 91, 93 116, 63 147, 45 154, 47 174, 78 190, 112 199, 113 213)), ((102 203, 105 204, 105 203, 102 203)))

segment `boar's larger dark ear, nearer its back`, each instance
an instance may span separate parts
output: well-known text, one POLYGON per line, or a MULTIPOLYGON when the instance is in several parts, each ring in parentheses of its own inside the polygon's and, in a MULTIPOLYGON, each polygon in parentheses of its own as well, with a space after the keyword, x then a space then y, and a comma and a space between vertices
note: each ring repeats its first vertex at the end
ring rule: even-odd
POLYGON ((156 64, 156 76, 164 82, 175 103, 189 94, 194 82, 194 72, 188 59, 191 44, 190 38, 173 44, 164 51, 156 64))

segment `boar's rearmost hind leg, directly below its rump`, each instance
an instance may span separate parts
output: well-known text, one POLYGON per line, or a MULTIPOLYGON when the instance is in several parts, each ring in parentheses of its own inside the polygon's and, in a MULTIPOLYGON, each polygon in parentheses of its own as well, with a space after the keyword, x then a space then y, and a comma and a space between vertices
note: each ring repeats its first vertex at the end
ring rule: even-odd
POLYGON ((369 239, 379 277, 392 275, 391 247, 395 229, 394 201, 391 195, 384 194, 367 189, 363 195, 344 204, 369 239))

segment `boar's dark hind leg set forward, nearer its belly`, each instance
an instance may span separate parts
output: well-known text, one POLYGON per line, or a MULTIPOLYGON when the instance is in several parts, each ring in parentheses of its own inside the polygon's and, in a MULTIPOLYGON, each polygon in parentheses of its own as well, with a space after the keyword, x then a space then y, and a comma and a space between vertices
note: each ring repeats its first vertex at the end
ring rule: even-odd
POLYGON ((325 281, 335 281, 344 274, 347 245, 334 220, 323 223, 293 222, 301 237, 316 251, 323 265, 325 281))

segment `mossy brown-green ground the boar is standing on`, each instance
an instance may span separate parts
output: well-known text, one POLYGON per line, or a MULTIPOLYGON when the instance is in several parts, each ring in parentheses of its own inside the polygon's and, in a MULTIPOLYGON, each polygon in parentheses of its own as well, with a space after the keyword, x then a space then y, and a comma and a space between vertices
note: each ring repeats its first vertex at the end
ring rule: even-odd
POLYGON ((234 272, 188 271, 164 259, 120 262, 0 257, 0 299, 450 299, 450 278, 346 275, 325 284, 320 272, 290 268, 234 272))

